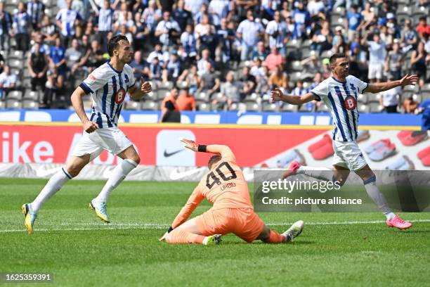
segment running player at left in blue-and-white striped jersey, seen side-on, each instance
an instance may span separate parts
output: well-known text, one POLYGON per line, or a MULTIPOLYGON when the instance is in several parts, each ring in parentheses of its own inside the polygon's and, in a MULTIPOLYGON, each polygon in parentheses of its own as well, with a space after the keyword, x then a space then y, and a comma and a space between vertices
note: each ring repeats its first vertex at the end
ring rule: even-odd
POLYGON ((82 168, 98 157, 103 150, 123 160, 115 167, 102 191, 89 205, 100 219, 110 222, 106 210, 107 198, 141 160, 131 141, 117 127, 117 122, 126 94, 138 101, 151 91, 151 85, 144 82, 140 88, 136 87, 133 70, 127 65, 131 63, 133 51, 124 35, 112 37, 107 43, 107 51, 110 61, 91 72, 74 90, 71 97, 73 108, 84 126, 83 136, 74 148, 72 158, 49 179, 32 203, 22 205, 25 227, 29 234, 33 231, 37 212, 46 200, 59 191, 67 181, 76 177, 82 168), (86 116, 82 103, 82 97, 86 94, 91 94, 93 98, 90 118, 86 116))

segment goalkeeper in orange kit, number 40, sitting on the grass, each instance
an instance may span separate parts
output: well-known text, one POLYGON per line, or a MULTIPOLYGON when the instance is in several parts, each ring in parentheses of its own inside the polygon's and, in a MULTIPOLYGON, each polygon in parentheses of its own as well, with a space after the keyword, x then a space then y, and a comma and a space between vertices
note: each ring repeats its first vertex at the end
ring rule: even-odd
POLYGON ((301 234, 304 223, 298 221, 283 234, 269 229, 252 208, 247 181, 228 146, 197 145, 181 139, 191 151, 214 153, 209 172, 194 189, 169 230, 159 240, 168 243, 216 244, 224 234, 233 233, 248 243, 259 239, 266 243, 292 241, 301 234), (188 219, 204 198, 214 206, 202 215, 188 219))

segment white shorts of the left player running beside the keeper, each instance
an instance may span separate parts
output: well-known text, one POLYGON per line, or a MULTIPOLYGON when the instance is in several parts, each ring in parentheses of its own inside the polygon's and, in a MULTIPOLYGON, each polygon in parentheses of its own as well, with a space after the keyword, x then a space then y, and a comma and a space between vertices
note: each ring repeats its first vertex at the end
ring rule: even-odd
POLYGON ((90 160, 97 158, 103 150, 117 155, 133 144, 118 127, 96 129, 91 134, 84 132, 72 155, 91 155, 90 160))

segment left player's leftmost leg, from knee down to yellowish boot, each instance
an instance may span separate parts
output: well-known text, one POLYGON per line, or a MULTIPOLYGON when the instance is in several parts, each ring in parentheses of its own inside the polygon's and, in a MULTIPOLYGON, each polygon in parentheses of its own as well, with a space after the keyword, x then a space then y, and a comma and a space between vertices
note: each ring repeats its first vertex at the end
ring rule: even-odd
POLYGON ((25 228, 29 234, 33 232, 37 212, 39 212, 46 200, 59 191, 67 181, 76 177, 89 162, 89 158, 90 155, 82 155, 80 157, 73 156, 70 158, 65 167, 62 167, 61 170, 53 174, 51 179, 49 179, 48 183, 44 186, 44 189, 41 190, 32 203, 25 203, 22 205, 22 213, 25 216, 25 228))

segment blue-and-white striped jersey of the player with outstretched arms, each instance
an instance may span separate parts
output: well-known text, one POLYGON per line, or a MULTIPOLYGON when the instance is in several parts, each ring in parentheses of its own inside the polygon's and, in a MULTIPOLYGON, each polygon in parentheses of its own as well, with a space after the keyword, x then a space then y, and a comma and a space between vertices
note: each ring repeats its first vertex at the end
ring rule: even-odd
POLYGON ((334 77, 325 79, 311 90, 316 101, 323 100, 332 113, 335 141, 355 141, 358 136, 357 96, 367 88, 367 83, 354 76, 346 77, 340 82, 334 77))

